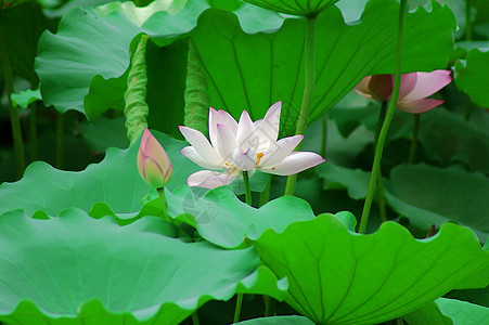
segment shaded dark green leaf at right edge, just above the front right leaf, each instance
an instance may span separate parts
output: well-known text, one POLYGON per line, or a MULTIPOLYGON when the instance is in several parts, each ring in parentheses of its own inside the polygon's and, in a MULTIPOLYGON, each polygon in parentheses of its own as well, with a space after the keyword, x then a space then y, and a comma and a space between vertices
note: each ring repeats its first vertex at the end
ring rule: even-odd
POLYGON ((420 209, 489 233, 489 179, 479 173, 427 165, 398 166, 390 172, 388 191, 420 209))

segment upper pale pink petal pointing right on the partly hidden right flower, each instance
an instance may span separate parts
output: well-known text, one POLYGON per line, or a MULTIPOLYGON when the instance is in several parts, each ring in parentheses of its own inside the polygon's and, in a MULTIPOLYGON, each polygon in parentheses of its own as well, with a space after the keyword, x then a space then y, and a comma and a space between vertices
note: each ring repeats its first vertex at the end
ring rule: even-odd
POLYGON ((427 98, 452 80, 450 70, 435 70, 432 73, 417 73, 416 86, 401 100, 417 101, 427 98))

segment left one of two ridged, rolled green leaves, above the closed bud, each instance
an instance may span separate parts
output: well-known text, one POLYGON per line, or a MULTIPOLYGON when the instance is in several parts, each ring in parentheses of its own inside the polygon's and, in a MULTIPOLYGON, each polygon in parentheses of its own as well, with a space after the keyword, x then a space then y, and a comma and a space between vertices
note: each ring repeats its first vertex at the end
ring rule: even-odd
POLYGON ((147 127, 147 114, 150 108, 146 104, 146 43, 150 37, 143 35, 139 41, 138 49, 132 56, 131 68, 127 78, 127 91, 124 94, 126 107, 127 138, 131 143, 138 140, 139 135, 147 127))

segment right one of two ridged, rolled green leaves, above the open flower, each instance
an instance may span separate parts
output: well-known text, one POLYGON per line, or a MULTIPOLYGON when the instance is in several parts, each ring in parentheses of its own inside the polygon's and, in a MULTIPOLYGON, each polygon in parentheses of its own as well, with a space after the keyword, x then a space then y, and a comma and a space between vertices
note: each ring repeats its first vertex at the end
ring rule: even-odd
POLYGON ((208 132, 207 116, 209 114, 210 98, 207 91, 204 65, 192 40, 189 40, 184 101, 185 127, 206 134, 208 132))

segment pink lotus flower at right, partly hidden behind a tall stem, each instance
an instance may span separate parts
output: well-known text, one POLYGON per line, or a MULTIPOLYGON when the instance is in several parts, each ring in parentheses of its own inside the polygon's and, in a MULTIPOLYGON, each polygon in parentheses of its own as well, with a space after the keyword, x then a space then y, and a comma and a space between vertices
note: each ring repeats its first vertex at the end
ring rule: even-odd
MULTIPOLYGON (((411 73, 401 75, 397 107, 407 113, 420 114, 433 109, 445 101, 426 99, 452 80, 450 70, 411 73)), ((375 75, 363 78, 355 91, 369 100, 389 101, 393 94, 394 75, 375 75)))

